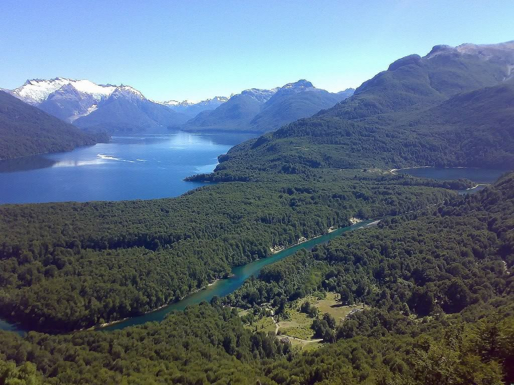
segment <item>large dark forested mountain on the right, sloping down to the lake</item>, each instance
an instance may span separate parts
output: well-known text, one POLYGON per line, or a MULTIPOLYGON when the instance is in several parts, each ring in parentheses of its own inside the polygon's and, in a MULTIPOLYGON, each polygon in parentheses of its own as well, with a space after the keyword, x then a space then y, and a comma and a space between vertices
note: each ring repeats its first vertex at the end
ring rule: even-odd
POLYGON ((412 166, 514 167, 514 41, 435 46, 364 82, 352 97, 230 149, 215 174, 412 166))

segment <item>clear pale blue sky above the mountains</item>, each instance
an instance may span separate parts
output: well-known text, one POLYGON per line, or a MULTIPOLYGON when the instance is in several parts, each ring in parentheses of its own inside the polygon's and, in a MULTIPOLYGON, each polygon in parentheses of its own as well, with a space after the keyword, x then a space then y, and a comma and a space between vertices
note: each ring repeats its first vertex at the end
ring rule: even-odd
POLYGON ((299 79, 338 91, 436 44, 514 40, 512 15, 511 0, 3 0, 0 87, 63 76, 154 100, 299 79))

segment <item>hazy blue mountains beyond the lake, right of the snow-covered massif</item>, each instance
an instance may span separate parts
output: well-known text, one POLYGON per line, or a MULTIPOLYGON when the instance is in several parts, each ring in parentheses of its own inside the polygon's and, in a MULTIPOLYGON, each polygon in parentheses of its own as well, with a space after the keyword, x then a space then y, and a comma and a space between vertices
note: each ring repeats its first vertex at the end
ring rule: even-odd
POLYGON ((251 88, 233 95, 213 111, 203 111, 182 129, 189 131, 266 132, 334 106, 353 94, 349 88, 331 93, 306 80, 263 90, 251 88))

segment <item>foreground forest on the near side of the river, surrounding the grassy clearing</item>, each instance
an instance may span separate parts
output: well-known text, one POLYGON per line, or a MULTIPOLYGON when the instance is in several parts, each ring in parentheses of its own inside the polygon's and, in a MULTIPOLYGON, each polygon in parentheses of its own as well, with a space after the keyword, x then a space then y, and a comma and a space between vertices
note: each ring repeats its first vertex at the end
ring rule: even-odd
MULTIPOLYGON (((10 378, 29 377, 26 383, 56 384, 510 383, 512 212, 509 174, 474 196, 452 196, 345 233, 264 269, 251 285, 271 284, 273 295, 310 290, 305 280, 293 276, 289 285, 288 279, 295 269, 301 276, 314 268, 323 275, 312 290, 371 305, 332 325, 334 339, 315 351, 300 353, 273 335, 251 332, 235 310, 213 299, 160 324, 116 332, 3 332, 0 369, 10 378)), ((234 297, 244 301, 248 288, 234 297)), ((325 319, 316 323, 331 327, 325 319)))

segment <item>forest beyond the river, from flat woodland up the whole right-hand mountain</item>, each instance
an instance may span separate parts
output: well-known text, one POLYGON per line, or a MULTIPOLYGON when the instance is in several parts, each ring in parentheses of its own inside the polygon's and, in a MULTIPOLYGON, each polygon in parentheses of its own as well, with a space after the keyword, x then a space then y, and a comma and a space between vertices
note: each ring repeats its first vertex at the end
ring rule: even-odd
POLYGON ((271 246, 454 194, 440 187, 471 186, 384 167, 514 166, 503 53, 446 49, 393 63, 351 98, 234 147, 216 172, 196 177, 238 183, 177 199, 0 207, 0 314, 42 331, 141 314, 271 246))

